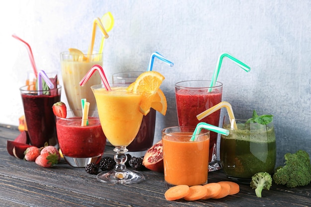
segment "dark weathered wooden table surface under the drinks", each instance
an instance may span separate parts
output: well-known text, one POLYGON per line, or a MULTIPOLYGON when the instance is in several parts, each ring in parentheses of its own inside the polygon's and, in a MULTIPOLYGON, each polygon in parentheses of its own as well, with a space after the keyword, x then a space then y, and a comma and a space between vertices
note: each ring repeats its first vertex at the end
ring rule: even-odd
MULTIPOLYGON (((273 184, 262 198, 247 184, 240 192, 219 200, 166 201, 163 173, 143 171, 146 180, 131 185, 109 185, 96 180, 84 168, 74 168, 64 160, 53 168, 43 168, 8 154, 6 140, 19 135, 17 127, 0 125, 0 206, 1 207, 311 207, 311 184, 286 188, 273 184)), ((106 146, 104 156, 113 156, 106 146)), ((208 182, 229 180, 219 170, 209 173, 208 182)))

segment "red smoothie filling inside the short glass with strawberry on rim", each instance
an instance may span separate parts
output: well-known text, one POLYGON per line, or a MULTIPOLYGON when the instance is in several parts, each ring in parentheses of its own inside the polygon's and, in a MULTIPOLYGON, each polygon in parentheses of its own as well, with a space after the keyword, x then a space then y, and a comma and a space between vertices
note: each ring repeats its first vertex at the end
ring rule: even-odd
POLYGON ((104 153, 106 137, 98 118, 88 118, 81 127, 81 118, 60 119, 56 122, 57 138, 64 156, 87 158, 104 153))

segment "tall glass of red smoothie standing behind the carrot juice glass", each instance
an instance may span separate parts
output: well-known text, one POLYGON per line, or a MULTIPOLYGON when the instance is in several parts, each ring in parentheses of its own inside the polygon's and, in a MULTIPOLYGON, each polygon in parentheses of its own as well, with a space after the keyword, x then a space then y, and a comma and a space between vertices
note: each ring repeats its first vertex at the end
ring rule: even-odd
MULTIPOLYGON (((202 120, 197 115, 222 101, 223 83, 210 87, 210 80, 186 80, 175 84, 176 109, 179 126, 195 127, 200 122, 219 126, 220 110, 202 120)), ((217 160, 218 134, 210 134, 209 172, 221 169, 217 160)))

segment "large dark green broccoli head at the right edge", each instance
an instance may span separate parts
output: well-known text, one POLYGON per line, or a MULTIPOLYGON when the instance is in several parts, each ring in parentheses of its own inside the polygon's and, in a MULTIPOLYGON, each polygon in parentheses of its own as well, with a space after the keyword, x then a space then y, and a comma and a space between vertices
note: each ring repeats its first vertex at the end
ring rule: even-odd
POLYGON ((284 155, 285 166, 279 167, 273 175, 276 184, 289 188, 306 186, 311 182, 311 163, 308 152, 298 150, 284 155))

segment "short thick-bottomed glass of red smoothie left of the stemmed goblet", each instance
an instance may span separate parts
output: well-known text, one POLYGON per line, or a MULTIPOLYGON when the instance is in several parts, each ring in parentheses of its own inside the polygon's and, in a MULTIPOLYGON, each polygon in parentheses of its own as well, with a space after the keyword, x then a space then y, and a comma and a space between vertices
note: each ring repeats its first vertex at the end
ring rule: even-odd
POLYGON ((67 117, 56 117, 57 138, 64 159, 73 167, 97 164, 104 153, 106 137, 97 111, 90 110, 88 124, 81 126, 82 117, 77 111, 67 111, 67 117))

